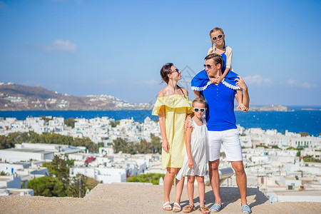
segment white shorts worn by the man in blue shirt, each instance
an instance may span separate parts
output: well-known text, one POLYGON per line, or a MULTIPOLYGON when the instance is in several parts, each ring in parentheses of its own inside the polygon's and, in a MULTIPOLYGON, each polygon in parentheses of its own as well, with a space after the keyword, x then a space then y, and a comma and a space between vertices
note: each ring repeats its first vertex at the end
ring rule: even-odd
POLYGON ((226 161, 243 161, 237 129, 208 131, 208 148, 210 148, 208 161, 215 161, 220 158, 221 144, 223 144, 226 161))

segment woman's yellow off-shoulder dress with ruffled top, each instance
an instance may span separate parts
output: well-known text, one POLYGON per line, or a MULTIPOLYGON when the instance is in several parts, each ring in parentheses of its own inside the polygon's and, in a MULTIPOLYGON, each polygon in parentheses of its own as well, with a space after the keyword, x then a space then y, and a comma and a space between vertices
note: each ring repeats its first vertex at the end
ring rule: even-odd
POLYGON ((158 97, 152 115, 158 116, 161 106, 165 106, 165 132, 170 146, 169 153, 162 150, 162 168, 181 168, 185 156, 184 123, 192 113, 192 102, 179 94, 158 97))

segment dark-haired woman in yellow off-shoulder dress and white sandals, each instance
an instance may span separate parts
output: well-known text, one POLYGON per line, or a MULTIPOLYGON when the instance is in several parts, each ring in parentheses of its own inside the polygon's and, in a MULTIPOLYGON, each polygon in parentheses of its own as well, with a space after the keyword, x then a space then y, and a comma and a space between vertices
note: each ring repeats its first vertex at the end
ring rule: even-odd
POLYGON ((170 205, 170 190, 175 175, 183 166, 185 156, 184 123, 188 113, 192 112, 192 105, 186 88, 177 85, 182 76, 173 63, 166 63, 161 68, 161 76, 167 86, 158 93, 153 108, 153 115, 159 117, 162 135, 162 168, 166 169, 164 178, 163 209, 180 212, 180 195, 183 191, 184 179, 176 179, 175 203, 170 205))

